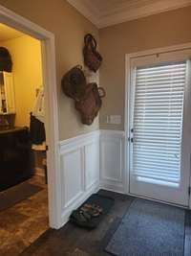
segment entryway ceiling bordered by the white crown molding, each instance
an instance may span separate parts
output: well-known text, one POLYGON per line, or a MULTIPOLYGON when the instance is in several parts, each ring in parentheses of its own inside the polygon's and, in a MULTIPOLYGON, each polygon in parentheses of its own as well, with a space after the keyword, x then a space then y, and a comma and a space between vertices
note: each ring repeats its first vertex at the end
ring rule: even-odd
POLYGON ((67 0, 97 28, 191 5, 191 0, 67 0))

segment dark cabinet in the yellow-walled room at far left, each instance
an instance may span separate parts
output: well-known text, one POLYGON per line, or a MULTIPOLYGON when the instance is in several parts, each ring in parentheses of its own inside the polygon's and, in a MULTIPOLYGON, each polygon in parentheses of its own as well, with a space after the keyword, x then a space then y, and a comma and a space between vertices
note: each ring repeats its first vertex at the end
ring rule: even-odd
POLYGON ((28 128, 0 131, 0 191, 33 175, 33 157, 28 128))

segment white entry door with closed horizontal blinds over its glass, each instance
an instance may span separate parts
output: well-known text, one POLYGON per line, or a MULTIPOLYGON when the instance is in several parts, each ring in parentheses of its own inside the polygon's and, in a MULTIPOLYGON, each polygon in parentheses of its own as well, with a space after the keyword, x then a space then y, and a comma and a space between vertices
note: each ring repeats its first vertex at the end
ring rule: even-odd
POLYGON ((191 51, 132 59, 130 193, 188 206, 191 51))

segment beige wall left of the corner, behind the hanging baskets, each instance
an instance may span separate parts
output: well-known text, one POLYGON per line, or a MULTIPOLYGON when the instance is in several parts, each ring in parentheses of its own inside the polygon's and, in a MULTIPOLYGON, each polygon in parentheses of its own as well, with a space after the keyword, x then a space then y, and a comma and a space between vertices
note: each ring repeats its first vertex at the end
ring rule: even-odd
POLYGON ((0 0, 11 9, 55 35, 56 75, 59 108, 60 140, 98 129, 98 118, 91 127, 80 123, 74 110, 74 101, 61 92, 60 81, 71 67, 82 64, 83 37, 92 33, 98 39, 98 30, 65 0, 0 0))

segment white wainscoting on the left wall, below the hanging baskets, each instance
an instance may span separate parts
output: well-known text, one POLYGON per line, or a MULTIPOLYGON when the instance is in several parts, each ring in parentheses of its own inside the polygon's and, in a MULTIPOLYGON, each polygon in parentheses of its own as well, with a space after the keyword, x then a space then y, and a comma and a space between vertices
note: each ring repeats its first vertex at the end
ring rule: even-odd
POLYGON ((60 142, 62 224, 99 189, 99 131, 60 142))

